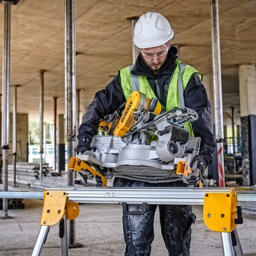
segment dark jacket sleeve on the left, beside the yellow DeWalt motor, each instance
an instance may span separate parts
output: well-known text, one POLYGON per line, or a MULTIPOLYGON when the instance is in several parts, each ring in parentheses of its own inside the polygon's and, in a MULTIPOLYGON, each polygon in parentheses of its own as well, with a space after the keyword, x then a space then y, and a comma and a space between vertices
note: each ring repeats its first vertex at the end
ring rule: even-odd
POLYGON ((92 137, 98 133, 100 119, 114 113, 125 101, 117 74, 104 90, 96 92, 93 101, 87 106, 78 128, 78 153, 88 150, 92 137))

